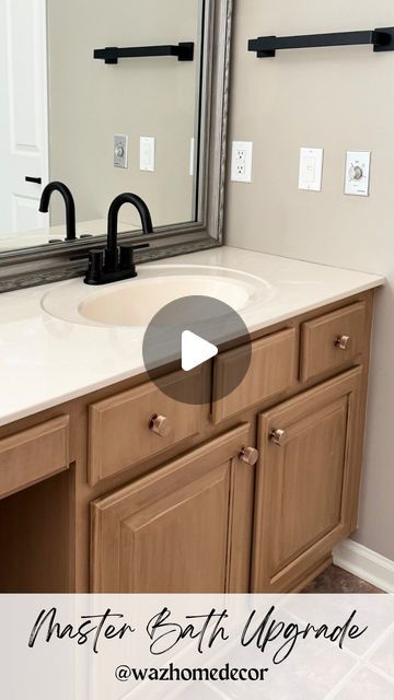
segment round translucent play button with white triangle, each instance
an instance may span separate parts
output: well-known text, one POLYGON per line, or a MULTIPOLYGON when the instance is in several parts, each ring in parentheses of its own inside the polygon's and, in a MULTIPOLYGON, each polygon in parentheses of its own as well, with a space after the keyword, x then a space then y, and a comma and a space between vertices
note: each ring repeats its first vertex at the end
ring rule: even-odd
POLYGON ((179 296, 153 316, 142 354, 149 378, 163 394, 183 404, 205 405, 212 398, 220 400, 241 384, 250 368, 252 343, 242 317, 224 302, 211 296, 179 296), (218 353, 227 359, 224 375, 223 368, 218 369, 218 353), (187 382, 182 375, 181 381, 178 375, 174 381, 169 378, 173 372, 184 372, 187 382), (197 382, 192 381, 193 372, 200 372, 197 382))

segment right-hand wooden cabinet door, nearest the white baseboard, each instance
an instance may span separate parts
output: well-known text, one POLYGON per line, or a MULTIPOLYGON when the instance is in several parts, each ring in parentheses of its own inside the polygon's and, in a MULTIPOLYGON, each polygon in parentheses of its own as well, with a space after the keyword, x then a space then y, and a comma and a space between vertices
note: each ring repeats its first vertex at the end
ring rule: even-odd
POLYGON ((352 529, 361 374, 352 370, 259 417, 255 592, 293 590, 352 529))

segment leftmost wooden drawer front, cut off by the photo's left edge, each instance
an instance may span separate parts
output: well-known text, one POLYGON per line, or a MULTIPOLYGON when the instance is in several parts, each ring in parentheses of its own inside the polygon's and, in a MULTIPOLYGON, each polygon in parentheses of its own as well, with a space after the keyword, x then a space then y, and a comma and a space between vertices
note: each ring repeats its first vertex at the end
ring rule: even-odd
POLYGON ((0 440, 0 498, 69 467, 69 417, 0 440))

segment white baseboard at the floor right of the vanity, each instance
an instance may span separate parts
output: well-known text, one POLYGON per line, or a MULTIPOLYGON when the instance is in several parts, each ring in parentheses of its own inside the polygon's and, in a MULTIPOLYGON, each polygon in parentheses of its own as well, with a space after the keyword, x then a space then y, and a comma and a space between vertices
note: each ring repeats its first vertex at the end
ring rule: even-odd
POLYGON ((368 583, 394 593, 394 561, 378 555, 372 549, 346 539, 334 549, 334 563, 368 583))

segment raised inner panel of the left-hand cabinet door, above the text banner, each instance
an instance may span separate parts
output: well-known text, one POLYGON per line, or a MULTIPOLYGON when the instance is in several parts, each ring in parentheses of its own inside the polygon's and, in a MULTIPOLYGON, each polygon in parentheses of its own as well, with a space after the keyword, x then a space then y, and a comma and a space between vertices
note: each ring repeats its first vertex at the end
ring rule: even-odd
POLYGON ((123 591, 224 591, 230 468, 224 463, 121 523, 123 591), (205 560, 209 568, 196 565, 205 560))

